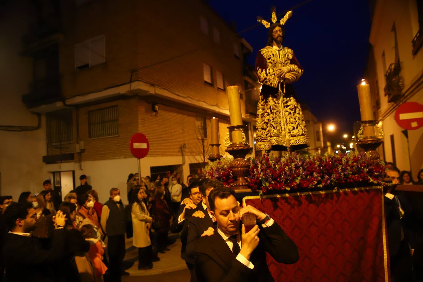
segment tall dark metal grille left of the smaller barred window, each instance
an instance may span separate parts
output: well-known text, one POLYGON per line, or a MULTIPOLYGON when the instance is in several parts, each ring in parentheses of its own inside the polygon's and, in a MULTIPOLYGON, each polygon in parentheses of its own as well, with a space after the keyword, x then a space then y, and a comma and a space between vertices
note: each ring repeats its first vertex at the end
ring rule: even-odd
POLYGON ((48 156, 74 153, 71 109, 47 113, 46 129, 48 156))

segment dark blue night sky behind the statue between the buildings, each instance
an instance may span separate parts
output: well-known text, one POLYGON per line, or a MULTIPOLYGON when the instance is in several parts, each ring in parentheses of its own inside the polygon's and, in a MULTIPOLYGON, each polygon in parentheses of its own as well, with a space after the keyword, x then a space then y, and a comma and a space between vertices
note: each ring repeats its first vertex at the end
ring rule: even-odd
MULTIPOLYGON (((209 4, 227 22, 235 21, 240 32, 256 25, 256 16, 270 22, 272 5, 280 14, 304 2, 213 0, 209 4)), ((297 96, 319 121, 334 123, 338 137, 352 134, 354 121, 360 120, 356 85, 364 75, 370 27, 368 0, 311 0, 295 8, 285 24, 283 45, 294 50, 304 68, 293 84, 297 96)), ((258 50, 266 45, 267 33, 260 25, 239 34, 253 47, 248 63, 254 65, 258 50)))

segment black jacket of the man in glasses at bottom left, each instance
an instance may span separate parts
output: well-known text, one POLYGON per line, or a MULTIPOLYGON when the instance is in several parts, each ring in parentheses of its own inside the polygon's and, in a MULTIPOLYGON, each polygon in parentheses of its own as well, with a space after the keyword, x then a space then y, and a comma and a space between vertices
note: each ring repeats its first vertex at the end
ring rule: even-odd
POLYGON ((31 237, 7 233, 3 255, 8 281, 56 281, 52 265, 63 259, 65 232, 63 229, 54 231, 52 246, 47 251, 38 248, 31 237))

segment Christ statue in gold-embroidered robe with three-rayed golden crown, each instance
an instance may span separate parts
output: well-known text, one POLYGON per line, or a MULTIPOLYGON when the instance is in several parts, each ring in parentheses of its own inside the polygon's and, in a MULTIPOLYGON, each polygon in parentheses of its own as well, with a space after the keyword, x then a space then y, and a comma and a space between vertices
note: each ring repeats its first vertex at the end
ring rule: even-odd
POLYGON ((292 11, 288 11, 277 22, 272 7, 272 25, 257 17, 269 28, 269 40, 255 60, 258 81, 262 83, 257 105, 256 150, 295 151, 309 146, 304 116, 291 85, 301 77, 303 69, 292 49, 282 45, 284 25, 291 15, 292 11))

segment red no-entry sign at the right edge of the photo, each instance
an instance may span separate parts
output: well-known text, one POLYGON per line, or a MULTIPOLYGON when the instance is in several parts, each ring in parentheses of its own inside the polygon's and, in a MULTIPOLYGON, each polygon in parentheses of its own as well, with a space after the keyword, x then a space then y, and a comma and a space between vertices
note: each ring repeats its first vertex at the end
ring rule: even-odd
POLYGON ((423 126, 423 105, 407 102, 398 107, 395 120, 403 129, 413 130, 423 126))

